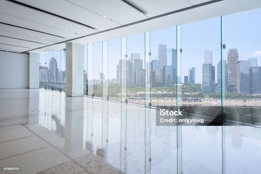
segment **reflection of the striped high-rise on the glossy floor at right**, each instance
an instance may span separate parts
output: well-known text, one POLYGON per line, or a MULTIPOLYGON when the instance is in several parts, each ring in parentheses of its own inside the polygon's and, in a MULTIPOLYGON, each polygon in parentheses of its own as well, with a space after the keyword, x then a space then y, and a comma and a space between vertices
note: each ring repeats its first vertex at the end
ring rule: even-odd
POLYGON ((233 145, 233 148, 241 148, 243 144, 241 126, 238 126, 238 124, 234 123, 232 124, 231 144, 233 145))

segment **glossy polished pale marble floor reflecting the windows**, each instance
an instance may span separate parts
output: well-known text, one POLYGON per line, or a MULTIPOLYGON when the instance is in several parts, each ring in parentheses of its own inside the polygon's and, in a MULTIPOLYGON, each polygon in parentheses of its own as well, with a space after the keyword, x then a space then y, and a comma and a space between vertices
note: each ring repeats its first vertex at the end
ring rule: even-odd
POLYGON ((261 128, 156 126, 153 108, 0 89, 0 173, 260 173, 261 128))

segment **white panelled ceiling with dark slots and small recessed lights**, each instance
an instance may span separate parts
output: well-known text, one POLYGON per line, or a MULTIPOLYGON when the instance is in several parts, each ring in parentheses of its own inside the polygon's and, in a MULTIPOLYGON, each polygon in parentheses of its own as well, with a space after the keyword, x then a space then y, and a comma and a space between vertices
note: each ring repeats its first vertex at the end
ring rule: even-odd
MULTIPOLYGON (((191 7, 207 0, 19 0, 19 2, 76 22, 7 0, 0 0, 0 22, 2 22, 0 23, 0 50, 2 51, 26 52, 52 44, 55 45, 30 52, 42 53, 63 49, 65 43, 56 43, 146 20, 149 17, 191 7), (142 10, 139 11, 140 9, 142 10)), ((260 0, 224 0, 74 39, 71 42, 88 44, 256 8, 261 8, 260 0)))

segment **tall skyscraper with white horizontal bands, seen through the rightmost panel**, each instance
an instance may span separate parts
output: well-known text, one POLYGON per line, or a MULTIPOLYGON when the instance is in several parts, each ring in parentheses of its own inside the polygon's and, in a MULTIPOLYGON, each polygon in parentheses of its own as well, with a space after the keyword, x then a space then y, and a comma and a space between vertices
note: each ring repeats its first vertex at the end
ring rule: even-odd
POLYGON ((238 49, 229 49, 227 52, 228 81, 229 84, 236 84, 236 68, 238 62, 238 49))

